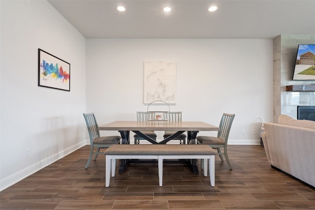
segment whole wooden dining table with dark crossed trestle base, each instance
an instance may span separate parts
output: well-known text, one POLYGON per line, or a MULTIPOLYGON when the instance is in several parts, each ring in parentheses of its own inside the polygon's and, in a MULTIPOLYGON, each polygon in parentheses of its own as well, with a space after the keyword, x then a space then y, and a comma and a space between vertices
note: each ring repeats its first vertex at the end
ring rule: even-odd
MULTIPOLYGON (((187 132, 187 143, 196 144, 196 136, 199 131, 220 131, 220 127, 202 122, 202 121, 113 121, 107 124, 98 126, 98 130, 117 130, 120 132, 122 141, 121 144, 130 144, 130 131, 143 137, 151 144, 166 144, 170 140, 179 136, 180 134, 187 132), (143 131, 175 131, 171 136, 156 141, 149 136, 145 135, 143 131)), ((196 160, 189 161, 192 167, 193 173, 198 173, 198 167, 196 160)), ((128 160, 121 160, 119 172, 125 171, 128 160)))

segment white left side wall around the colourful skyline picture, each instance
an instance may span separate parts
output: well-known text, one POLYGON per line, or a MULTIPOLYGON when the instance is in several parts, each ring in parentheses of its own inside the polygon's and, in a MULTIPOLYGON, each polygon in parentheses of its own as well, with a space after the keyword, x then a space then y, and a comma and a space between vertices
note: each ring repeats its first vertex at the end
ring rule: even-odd
POLYGON ((0 190, 86 144, 86 39, 47 1, 29 2, 0 0, 0 190), (71 64, 70 92, 37 87, 38 48, 71 64))

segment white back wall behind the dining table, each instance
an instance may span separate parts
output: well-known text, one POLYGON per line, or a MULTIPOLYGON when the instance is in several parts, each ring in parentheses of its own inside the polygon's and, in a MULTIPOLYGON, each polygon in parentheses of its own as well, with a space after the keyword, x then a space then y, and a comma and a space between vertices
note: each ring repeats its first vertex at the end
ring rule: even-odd
MULTIPOLYGON (((136 120, 136 111, 147 110, 143 61, 151 60, 176 62, 171 110, 183 120, 218 125, 223 112, 234 113, 229 142, 259 144, 261 122, 273 117, 272 40, 87 39, 87 112, 98 124, 136 120)), ((103 133, 112 134, 119 133, 103 133)))

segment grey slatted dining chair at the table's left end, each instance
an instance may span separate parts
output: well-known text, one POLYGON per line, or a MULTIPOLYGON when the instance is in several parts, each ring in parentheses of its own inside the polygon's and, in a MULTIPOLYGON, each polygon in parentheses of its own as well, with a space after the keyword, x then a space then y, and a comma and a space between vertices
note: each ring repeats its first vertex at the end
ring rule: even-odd
POLYGON ((95 154, 95 157, 94 157, 94 161, 95 161, 98 154, 104 153, 104 152, 100 152, 99 149, 108 148, 111 145, 119 144, 121 137, 120 136, 102 136, 101 137, 99 135, 99 130, 97 129, 98 125, 97 125, 94 113, 86 113, 86 114, 83 114, 83 116, 87 124, 89 136, 90 136, 90 156, 85 166, 85 169, 87 169, 91 163, 93 154, 95 154), (96 148, 96 151, 94 151, 94 148, 96 148))

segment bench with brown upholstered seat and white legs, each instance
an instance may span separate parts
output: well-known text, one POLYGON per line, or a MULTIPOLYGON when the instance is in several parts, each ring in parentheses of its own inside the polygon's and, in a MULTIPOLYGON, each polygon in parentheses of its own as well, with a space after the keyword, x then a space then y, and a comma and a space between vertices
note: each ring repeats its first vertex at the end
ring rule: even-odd
POLYGON ((159 186, 163 181, 163 159, 202 159, 203 173, 207 177, 209 159, 209 176, 211 186, 215 186, 216 150, 208 145, 112 145, 105 150, 105 186, 109 187, 110 176, 115 177, 116 159, 158 159, 159 186))

